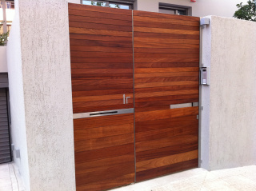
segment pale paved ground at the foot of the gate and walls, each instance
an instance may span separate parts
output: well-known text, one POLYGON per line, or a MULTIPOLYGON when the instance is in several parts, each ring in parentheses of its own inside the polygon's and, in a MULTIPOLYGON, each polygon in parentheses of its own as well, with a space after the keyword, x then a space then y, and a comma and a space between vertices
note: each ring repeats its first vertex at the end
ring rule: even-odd
MULTIPOLYGON (((208 172, 190 169, 111 191, 256 191, 256 165, 208 172)), ((0 191, 25 191, 17 167, 0 165, 0 191)), ((40 191, 40 190, 37 190, 40 191)), ((62 190, 54 190, 62 191, 62 190)), ((92 190, 94 191, 94 190, 92 190)))

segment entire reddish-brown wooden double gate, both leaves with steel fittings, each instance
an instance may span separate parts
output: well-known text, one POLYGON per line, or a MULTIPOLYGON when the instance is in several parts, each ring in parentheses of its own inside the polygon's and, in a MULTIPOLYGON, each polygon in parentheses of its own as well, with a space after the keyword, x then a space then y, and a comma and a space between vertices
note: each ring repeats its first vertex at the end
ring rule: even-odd
POLYGON ((77 190, 198 167, 199 18, 69 4, 77 190))

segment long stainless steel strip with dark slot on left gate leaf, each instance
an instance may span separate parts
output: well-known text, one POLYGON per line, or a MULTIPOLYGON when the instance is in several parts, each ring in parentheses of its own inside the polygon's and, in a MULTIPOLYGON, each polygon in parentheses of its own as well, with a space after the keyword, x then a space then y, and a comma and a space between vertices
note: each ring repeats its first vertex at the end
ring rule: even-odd
POLYGON ((88 118, 88 117, 101 117, 101 116, 119 115, 119 114, 126 114, 126 113, 134 113, 134 108, 96 111, 96 112, 87 112, 87 113, 74 113, 73 118, 81 119, 81 118, 88 118))

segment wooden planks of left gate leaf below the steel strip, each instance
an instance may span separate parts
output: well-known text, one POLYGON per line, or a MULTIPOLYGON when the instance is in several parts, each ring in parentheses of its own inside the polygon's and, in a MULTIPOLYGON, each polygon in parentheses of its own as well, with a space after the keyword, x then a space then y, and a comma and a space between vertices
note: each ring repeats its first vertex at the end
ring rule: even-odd
POLYGON ((134 114, 75 119, 74 152, 78 189, 110 189, 133 182, 134 114), (119 177, 126 180, 118 182, 119 177), (114 181, 106 181, 110 179, 114 181))

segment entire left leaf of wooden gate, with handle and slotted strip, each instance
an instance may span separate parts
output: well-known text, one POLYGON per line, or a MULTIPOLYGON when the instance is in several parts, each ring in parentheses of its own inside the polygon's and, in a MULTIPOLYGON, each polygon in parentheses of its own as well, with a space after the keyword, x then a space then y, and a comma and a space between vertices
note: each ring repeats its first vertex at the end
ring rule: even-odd
POLYGON ((69 4, 77 190, 134 182, 132 11, 69 4))

